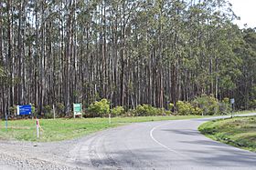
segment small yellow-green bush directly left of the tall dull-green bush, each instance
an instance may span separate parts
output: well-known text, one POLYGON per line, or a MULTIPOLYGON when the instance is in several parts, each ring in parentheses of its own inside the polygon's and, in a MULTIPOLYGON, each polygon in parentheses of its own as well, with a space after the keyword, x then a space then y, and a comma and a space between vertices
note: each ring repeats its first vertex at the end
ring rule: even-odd
POLYGON ((178 115, 201 115, 202 110, 188 102, 177 101, 176 103, 178 115))

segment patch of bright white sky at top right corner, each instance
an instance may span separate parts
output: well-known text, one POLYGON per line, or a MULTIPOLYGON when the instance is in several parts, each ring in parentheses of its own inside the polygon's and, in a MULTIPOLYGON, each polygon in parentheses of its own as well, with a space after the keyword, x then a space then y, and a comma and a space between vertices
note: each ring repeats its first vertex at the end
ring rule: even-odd
POLYGON ((232 9, 236 15, 240 16, 240 21, 235 21, 235 24, 240 28, 256 27, 256 0, 229 0, 233 5, 232 9))

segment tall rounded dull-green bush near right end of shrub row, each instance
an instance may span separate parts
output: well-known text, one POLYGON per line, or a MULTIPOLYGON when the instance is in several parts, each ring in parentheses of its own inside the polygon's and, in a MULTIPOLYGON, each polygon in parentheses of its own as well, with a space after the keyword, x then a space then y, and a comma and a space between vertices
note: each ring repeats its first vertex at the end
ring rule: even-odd
POLYGON ((217 115, 219 114, 219 101, 211 95, 201 95, 193 102, 198 108, 202 109, 203 115, 217 115))

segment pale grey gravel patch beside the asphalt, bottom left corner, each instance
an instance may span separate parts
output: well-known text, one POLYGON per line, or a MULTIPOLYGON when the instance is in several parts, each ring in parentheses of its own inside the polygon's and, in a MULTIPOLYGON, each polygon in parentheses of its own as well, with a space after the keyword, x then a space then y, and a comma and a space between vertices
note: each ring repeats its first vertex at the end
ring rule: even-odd
POLYGON ((79 169, 67 164, 75 140, 56 143, 0 141, 0 169, 79 169))

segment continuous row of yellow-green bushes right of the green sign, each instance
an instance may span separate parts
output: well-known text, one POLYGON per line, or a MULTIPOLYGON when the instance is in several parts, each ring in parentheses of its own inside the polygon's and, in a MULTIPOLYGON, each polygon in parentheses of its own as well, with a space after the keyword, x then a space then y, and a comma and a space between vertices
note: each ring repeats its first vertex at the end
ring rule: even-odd
POLYGON ((201 95, 191 102, 177 101, 176 105, 169 103, 168 108, 158 108, 152 105, 137 105, 133 109, 123 106, 111 108, 111 103, 103 98, 84 110, 85 117, 112 116, 159 116, 159 115, 227 115, 231 111, 229 98, 218 100, 213 95, 201 95))

